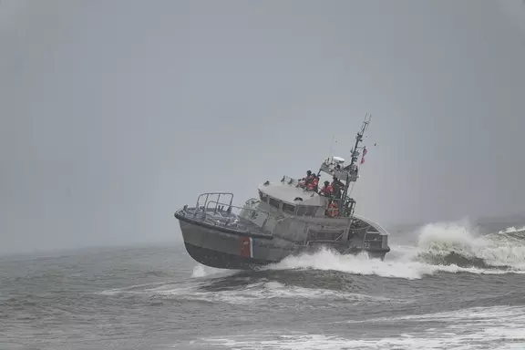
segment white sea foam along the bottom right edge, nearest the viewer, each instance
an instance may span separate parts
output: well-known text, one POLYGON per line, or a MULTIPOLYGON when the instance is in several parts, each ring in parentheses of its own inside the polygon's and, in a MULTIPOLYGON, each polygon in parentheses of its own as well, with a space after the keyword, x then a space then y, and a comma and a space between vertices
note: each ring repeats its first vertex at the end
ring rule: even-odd
MULTIPOLYGON (((376 318, 360 323, 383 324, 425 322, 400 335, 386 337, 320 335, 267 332, 202 339, 211 345, 239 350, 254 349, 523 349, 525 348, 525 308, 486 307, 455 312, 376 318), (428 325, 427 325, 428 324, 428 325), (415 330, 417 329, 417 330, 415 330)), ((363 327, 364 332, 366 327, 363 327)), ((380 332, 377 332, 378 334, 380 332)))

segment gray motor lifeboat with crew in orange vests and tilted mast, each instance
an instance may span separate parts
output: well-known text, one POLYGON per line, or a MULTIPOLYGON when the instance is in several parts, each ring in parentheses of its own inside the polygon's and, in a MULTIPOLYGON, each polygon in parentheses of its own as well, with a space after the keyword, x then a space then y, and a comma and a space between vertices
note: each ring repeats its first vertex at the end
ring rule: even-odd
MULTIPOLYGON (((234 270, 256 270, 291 255, 329 249, 341 254, 365 252, 383 260, 388 232, 375 221, 355 213, 350 197, 366 148, 360 146, 371 116, 355 137, 351 161, 328 157, 314 178, 336 181, 336 194, 320 194, 308 179, 269 180, 258 186, 258 198, 233 203, 233 193, 199 195, 195 206, 184 205, 174 216, 186 251, 203 265, 234 270), (358 164, 359 156, 361 161, 358 164)), ((320 187, 320 186, 318 186, 320 187)))

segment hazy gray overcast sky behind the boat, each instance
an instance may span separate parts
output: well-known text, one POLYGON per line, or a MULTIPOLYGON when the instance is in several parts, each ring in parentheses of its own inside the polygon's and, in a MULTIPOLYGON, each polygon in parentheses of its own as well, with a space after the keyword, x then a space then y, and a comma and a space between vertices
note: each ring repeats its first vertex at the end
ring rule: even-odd
POLYGON ((180 240, 208 190, 348 159, 385 224, 525 211, 525 4, 0 3, 0 251, 180 240))

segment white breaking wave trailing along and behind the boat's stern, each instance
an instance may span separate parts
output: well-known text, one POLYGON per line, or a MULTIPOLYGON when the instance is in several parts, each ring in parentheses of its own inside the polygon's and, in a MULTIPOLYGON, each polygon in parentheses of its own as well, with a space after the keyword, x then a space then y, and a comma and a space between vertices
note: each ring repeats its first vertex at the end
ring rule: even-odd
MULTIPOLYGON (((427 224, 417 233, 415 246, 392 246, 383 262, 365 253, 354 256, 322 250, 290 256, 267 268, 335 270, 406 279, 438 272, 525 273, 525 228, 512 227, 482 236, 468 223, 441 222, 427 224)), ((393 239, 391 236, 391 242, 393 239)))

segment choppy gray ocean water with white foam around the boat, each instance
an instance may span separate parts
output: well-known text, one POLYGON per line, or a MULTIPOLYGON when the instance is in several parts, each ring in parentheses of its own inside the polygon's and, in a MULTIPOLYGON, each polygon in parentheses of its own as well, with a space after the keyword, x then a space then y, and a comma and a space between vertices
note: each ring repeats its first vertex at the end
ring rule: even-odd
POLYGON ((0 257, 0 349, 525 349, 525 230, 428 224, 384 262, 258 272, 181 244, 0 257))

